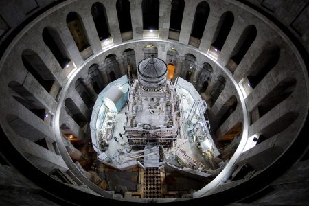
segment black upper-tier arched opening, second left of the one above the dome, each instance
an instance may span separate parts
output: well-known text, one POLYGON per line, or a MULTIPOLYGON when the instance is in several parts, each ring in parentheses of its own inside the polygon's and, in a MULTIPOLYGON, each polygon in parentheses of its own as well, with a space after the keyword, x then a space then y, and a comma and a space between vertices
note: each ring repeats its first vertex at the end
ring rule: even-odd
POLYGON ((91 15, 95 23, 95 29, 98 32, 100 41, 109 38, 111 34, 109 32, 109 25, 104 5, 99 2, 93 3, 91 6, 91 15))

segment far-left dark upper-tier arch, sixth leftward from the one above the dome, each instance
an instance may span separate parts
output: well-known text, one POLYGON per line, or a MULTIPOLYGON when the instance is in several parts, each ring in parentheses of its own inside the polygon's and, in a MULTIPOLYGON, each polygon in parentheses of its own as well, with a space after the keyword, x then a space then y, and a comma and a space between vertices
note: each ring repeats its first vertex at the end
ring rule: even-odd
POLYGON ((23 85, 19 84, 19 82, 11 81, 8 87, 12 89, 12 96, 17 102, 25 106, 38 118, 45 119, 45 107, 23 85))

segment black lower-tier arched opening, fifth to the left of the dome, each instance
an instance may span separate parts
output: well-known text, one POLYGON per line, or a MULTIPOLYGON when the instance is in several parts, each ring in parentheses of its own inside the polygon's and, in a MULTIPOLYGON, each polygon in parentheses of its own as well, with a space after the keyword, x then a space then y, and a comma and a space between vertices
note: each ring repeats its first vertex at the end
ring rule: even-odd
POLYGON ((74 119, 76 124, 81 128, 87 124, 87 119, 82 115, 78 106, 76 106, 75 102, 71 98, 65 99, 65 111, 67 114, 74 119))

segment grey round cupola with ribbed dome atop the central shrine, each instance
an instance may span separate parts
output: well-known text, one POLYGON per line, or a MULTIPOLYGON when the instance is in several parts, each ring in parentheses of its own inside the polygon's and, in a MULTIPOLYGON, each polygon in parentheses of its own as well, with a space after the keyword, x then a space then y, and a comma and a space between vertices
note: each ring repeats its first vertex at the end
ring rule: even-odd
POLYGON ((137 75, 141 86, 147 91, 158 91, 166 82, 168 72, 165 62, 152 55, 139 62, 137 75))

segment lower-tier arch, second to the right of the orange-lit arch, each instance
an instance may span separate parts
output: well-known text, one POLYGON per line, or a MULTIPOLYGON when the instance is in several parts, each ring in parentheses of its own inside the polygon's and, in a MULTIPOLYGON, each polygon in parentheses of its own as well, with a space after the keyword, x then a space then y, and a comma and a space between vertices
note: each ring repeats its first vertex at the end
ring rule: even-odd
POLYGON ((196 83, 196 89, 199 91, 199 93, 206 91, 209 82, 211 82, 211 73, 213 72, 214 69, 212 69, 211 65, 205 62, 196 83))

